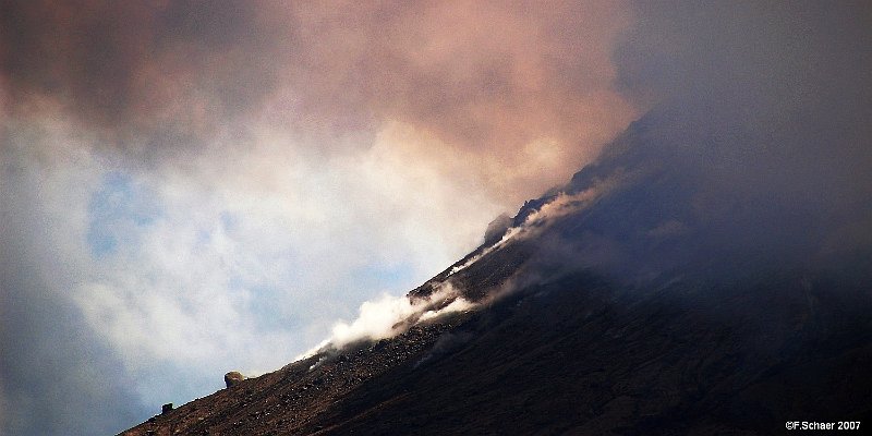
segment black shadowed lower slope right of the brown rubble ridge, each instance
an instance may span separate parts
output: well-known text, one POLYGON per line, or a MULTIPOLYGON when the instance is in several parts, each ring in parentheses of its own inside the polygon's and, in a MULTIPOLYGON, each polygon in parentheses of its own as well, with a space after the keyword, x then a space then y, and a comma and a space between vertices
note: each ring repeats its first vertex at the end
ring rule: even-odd
POLYGON ((846 322, 863 314, 772 284, 714 300, 567 277, 473 317, 444 336, 455 350, 377 378, 327 422, 336 434, 644 435, 870 417, 870 325, 846 322))

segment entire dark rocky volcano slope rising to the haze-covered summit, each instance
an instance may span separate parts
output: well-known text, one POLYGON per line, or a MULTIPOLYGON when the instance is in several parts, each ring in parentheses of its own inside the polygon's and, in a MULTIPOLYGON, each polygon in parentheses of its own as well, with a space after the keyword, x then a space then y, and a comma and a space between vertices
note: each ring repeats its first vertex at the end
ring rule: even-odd
POLYGON ((675 164, 644 121, 569 184, 528 202, 501 239, 408 295, 427 301, 451 283, 458 292, 428 308, 464 298, 471 310, 325 347, 122 434, 751 435, 787 432, 788 421, 872 424, 869 247, 822 250, 832 238, 816 217, 712 192, 699 182, 704 169, 675 164))

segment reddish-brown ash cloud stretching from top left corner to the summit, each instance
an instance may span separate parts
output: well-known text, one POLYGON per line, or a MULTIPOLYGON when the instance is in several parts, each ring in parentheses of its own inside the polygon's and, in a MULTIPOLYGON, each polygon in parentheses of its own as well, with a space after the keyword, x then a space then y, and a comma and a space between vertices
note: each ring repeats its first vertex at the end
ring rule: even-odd
POLYGON ((336 154, 399 123, 431 138, 422 158, 510 203, 589 161, 635 113, 613 88, 611 49, 631 23, 621 2, 2 9, 8 111, 60 110, 138 159, 259 123, 336 154))

